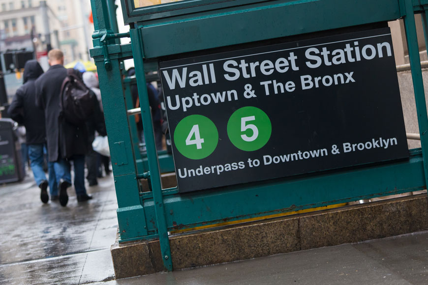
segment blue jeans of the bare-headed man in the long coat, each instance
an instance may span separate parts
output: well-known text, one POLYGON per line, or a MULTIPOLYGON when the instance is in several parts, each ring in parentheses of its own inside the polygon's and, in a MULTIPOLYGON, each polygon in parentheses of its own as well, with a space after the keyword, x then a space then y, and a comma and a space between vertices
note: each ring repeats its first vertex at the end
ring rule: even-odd
MULTIPOLYGON (((71 160, 74 166, 74 189, 76 190, 76 195, 85 195, 85 155, 74 155, 71 160)), ((54 168, 58 183, 62 179, 71 184, 71 165, 69 160, 60 158, 54 162, 54 168)))

